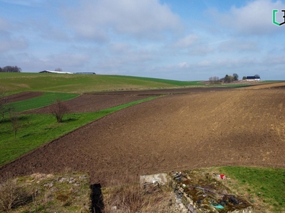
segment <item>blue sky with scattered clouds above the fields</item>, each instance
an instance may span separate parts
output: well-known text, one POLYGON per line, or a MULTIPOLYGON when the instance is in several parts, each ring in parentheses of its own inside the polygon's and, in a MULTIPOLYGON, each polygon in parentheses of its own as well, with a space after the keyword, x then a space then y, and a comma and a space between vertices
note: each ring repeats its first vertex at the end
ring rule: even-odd
POLYGON ((0 0, 0 67, 285 80, 285 0, 0 0))

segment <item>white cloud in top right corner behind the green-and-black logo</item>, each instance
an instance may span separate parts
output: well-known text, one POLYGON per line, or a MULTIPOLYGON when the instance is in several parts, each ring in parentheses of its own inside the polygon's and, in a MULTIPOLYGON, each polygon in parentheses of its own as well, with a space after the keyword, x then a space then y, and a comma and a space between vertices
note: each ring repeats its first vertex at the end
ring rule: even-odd
MULTIPOLYGON (((272 23, 272 10, 284 9, 282 1, 256 0, 249 1, 246 6, 232 6, 229 12, 219 13, 217 9, 208 11, 217 23, 233 28, 243 34, 270 34, 281 31, 272 23)), ((280 15, 280 13, 279 13, 280 15)), ((281 15, 280 15, 281 16, 281 15)))

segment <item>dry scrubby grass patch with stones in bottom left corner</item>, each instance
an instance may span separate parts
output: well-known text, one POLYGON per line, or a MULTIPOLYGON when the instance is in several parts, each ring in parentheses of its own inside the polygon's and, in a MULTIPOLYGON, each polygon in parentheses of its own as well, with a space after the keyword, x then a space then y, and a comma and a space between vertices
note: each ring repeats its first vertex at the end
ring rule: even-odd
POLYGON ((0 212, 90 212, 90 180, 84 173, 6 178, 0 183, 0 212))

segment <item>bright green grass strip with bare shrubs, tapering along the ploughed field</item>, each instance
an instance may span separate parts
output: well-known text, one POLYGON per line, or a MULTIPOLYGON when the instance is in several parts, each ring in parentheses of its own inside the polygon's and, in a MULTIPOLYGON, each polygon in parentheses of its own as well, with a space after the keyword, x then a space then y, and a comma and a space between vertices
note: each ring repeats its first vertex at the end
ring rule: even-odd
POLYGON ((21 114, 19 115, 19 130, 17 137, 11 127, 8 117, 0 123, 0 165, 8 163, 24 153, 52 141, 64 134, 80 128, 83 125, 102 118, 120 109, 155 99, 150 97, 118 107, 103 109, 97 112, 66 114, 62 123, 57 123, 51 114, 21 114))

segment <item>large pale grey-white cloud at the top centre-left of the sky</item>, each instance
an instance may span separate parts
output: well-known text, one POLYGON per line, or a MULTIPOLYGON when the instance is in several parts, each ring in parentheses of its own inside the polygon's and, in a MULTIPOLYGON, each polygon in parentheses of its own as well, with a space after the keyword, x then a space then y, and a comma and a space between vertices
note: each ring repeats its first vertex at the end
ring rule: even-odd
POLYGON ((108 40, 110 34, 160 38, 165 31, 182 27, 180 18, 158 0, 79 1, 76 9, 63 11, 68 26, 78 35, 108 40))

